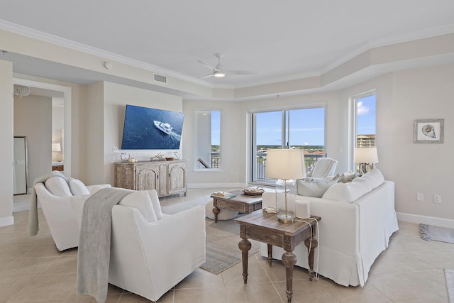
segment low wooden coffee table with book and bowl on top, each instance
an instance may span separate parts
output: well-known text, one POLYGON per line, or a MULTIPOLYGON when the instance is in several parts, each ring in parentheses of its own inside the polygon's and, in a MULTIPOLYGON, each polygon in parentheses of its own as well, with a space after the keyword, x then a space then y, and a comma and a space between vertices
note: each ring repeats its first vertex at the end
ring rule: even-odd
POLYGON ((246 214, 262 209, 262 196, 248 196, 239 190, 231 192, 236 194, 233 198, 223 198, 216 195, 211 195, 213 198, 213 214, 214 222, 218 223, 218 214, 221 209, 234 209, 246 214))

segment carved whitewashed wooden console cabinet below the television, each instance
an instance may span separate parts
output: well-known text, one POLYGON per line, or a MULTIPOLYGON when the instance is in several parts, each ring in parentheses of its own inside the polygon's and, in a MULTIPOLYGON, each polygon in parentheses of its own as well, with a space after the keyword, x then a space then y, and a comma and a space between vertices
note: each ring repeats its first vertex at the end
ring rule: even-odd
POLYGON ((115 187, 133 190, 156 189, 159 197, 187 195, 187 160, 117 162, 115 187))

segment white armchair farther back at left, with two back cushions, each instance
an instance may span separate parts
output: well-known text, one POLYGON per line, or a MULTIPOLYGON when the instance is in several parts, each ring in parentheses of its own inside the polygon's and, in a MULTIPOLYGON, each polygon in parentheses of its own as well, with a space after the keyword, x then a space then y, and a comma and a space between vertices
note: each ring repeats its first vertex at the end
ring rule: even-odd
POLYGON ((57 249, 62 251, 79 246, 80 229, 72 209, 71 200, 85 200, 97 189, 111 187, 111 184, 85 186, 77 179, 67 182, 62 177, 50 177, 45 182, 35 183, 38 203, 43 210, 45 221, 57 249), (46 186, 47 185, 47 186, 46 186), (72 187, 70 188, 70 185, 72 187), (74 193, 74 195, 73 195, 74 193))

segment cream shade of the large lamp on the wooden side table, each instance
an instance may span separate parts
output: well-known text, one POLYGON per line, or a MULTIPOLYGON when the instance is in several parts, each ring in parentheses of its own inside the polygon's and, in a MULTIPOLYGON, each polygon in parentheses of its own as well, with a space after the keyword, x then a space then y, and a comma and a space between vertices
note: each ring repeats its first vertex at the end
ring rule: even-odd
POLYGON ((272 179, 303 179, 306 177, 303 150, 267 150, 265 177, 272 179))

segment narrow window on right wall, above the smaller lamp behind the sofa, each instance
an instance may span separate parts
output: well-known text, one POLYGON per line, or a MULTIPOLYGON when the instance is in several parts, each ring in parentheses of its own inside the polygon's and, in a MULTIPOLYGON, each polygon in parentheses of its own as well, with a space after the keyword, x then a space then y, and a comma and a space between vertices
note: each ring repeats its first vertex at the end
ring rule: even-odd
MULTIPOLYGON (((374 148, 376 128, 376 95, 375 92, 361 94, 355 97, 355 147, 374 148)), ((363 167, 363 170, 370 170, 371 165, 363 167)), ((360 167, 355 163, 355 170, 359 172, 360 167)))

